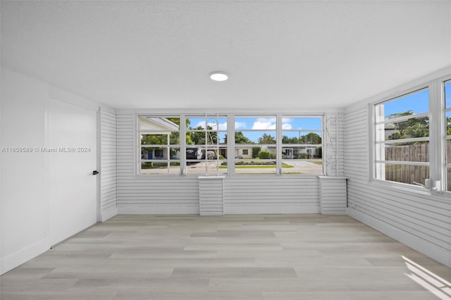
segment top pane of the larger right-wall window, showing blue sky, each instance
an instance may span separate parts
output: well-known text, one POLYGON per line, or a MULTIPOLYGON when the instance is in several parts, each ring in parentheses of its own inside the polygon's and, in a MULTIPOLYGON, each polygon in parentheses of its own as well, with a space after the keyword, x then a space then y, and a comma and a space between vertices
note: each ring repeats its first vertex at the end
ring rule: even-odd
POLYGON ((376 121, 390 120, 403 115, 417 115, 429 111, 429 92, 423 89, 376 106, 376 121))

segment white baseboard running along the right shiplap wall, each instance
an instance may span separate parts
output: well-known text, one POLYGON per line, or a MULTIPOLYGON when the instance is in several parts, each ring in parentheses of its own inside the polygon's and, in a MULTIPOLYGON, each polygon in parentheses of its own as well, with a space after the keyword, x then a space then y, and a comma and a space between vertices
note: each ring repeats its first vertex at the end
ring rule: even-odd
POLYGON ((371 217, 370 215, 357 211, 354 208, 347 208, 347 215, 358 220, 359 222, 364 223, 365 225, 368 225, 369 227, 373 227, 375 230, 382 232, 384 235, 388 235, 388 237, 396 239, 398 242, 401 242, 402 244, 405 244, 410 248, 435 259, 435 261, 451 267, 450 251, 431 244, 424 239, 410 234, 409 232, 405 232, 404 230, 400 230, 399 228, 384 223, 381 220, 371 217))

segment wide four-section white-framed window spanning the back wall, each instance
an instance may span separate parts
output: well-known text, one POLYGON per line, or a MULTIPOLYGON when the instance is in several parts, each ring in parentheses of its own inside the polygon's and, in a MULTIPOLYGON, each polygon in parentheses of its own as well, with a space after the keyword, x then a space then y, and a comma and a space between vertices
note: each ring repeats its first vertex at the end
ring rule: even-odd
POLYGON ((322 174, 322 139, 322 116, 137 115, 137 174, 322 174))

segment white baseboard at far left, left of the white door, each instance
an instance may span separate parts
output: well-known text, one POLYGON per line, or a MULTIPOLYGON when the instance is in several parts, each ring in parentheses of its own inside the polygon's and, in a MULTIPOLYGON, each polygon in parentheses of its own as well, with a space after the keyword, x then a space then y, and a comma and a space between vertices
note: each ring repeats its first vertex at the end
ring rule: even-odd
POLYGON ((47 250, 49 250, 47 239, 42 239, 31 246, 2 257, 0 260, 0 275, 18 267, 26 261, 30 261, 30 259, 35 258, 39 254, 43 254, 47 250))

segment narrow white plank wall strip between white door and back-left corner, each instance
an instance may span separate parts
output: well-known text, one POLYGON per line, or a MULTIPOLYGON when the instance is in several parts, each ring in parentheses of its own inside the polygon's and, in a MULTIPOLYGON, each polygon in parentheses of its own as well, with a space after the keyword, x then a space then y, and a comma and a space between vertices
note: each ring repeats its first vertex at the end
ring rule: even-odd
POLYGON ((116 113, 100 108, 100 210, 101 220, 117 214, 116 113))

